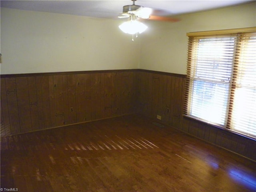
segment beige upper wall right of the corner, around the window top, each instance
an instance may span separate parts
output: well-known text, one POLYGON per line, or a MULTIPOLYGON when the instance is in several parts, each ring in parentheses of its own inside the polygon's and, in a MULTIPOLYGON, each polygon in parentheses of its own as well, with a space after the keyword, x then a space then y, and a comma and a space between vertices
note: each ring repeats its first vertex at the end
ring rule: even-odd
POLYGON ((142 35, 139 68, 186 74, 187 32, 256 26, 256 2, 182 15, 177 23, 149 23, 142 35))

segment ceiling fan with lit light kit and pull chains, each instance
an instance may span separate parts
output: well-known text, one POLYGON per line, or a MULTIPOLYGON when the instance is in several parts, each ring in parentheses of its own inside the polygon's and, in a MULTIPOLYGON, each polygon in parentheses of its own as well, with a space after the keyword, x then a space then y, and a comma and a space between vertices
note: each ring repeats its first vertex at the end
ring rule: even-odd
POLYGON ((138 21, 140 19, 149 19, 149 20, 157 20, 157 21, 168 21, 168 22, 177 22, 177 18, 171 18, 168 16, 162 16, 162 14, 166 13, 165 10, 153 9, 148 7, 143 7, 140 5, 135 5, 136 0, 131 0, 132 5, 123 6, 123 12, 118 18, 129 18, 128 21, 124 22, 119 26, 119 28, 128 34, 133 35, 136 34, 136 38, 138 37, 138 33, 144 32, 148 27, 142 22, 138 21), (154 14, 157 13, 157 14, 154 14))

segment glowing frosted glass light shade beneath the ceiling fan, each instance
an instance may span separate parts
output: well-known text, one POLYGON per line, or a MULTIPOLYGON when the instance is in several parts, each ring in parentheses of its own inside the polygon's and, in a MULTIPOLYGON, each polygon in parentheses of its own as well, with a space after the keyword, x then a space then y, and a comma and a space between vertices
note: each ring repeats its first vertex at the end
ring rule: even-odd
POLYGON ((138 20, 130 20, 122 23, 119 28, 128 34, 136 34, 144 32, 148 26, 139 22, 138 20))

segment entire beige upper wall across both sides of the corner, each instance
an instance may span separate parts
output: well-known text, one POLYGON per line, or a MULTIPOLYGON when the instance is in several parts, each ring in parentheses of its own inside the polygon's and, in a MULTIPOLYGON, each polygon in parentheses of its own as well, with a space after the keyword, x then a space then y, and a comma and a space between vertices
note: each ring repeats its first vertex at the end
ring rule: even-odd
POLYGON ((134 42, 108 20, 1 8, 1 74, 142 68, 186 74, 187 32, 256 26, 256 2, 146 21, 134 42))

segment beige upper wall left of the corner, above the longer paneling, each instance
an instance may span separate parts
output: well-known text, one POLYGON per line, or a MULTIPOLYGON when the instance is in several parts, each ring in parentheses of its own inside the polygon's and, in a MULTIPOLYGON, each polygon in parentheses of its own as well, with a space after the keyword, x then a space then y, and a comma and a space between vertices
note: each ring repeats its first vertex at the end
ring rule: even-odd
POLYGON ((138 68, 121 21, 1 8, 1 74, 138 68))

